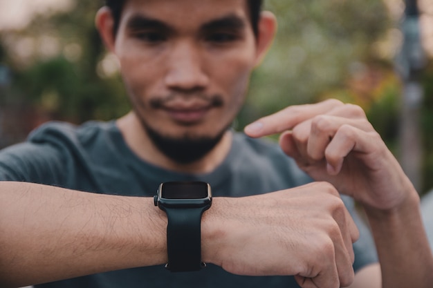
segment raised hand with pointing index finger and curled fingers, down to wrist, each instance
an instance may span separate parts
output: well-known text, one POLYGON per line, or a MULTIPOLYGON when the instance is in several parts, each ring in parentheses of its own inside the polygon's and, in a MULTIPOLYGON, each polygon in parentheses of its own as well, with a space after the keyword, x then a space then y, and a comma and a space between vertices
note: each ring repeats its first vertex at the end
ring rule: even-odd
POLYGON ((302 170, 369 207, 397 207, 414 191, 359 106, 334 99, 289 106, 245 131, 250 137, 282 133, 280 146, 302 170))

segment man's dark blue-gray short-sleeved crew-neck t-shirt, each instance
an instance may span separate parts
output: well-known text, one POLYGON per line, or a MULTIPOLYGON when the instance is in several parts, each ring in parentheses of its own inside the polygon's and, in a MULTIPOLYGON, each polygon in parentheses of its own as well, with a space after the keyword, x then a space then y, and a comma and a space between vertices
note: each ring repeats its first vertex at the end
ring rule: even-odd
MULTIPOLYGON (((129 149, 114 121, 87 122, 82 126, 62 122, 45 124, 33 131, 27 142, 0 151, 0 180, 147 197, 154 195, 158 185, 166 181, 208 182, 214 197, 256 195, 311 182, 279 146, 251 139, 242 133, 234 133, 228 156, 212 173, 192 175, 167 171, 140 160, 129 149)), ((353 201, 344 197, 344 203, 361 233, 353 245, 356 255, 353 267, 358 270, 377 262, 376 251, 368 229, 354 211, 353 201)), ((237 276, 215 265, 208 265, 198 272, 171 273, 161 265, 100 273, 35 287, 298 286, 291 276, 237 276)))

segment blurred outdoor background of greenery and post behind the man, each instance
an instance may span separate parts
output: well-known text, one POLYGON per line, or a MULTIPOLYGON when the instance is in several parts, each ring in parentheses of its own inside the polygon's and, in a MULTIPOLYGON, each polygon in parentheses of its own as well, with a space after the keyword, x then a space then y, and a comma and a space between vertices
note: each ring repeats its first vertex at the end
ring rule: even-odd
MULTIPOLYGON (((291 104, 365 109, 420 193, 433 188, 433 0, 265 0, 273 48, 234 126, 291 104)), ((51 119, 129 111, 118 64, 95 30, 102 1, 0 0, 0 148, 51 119)))

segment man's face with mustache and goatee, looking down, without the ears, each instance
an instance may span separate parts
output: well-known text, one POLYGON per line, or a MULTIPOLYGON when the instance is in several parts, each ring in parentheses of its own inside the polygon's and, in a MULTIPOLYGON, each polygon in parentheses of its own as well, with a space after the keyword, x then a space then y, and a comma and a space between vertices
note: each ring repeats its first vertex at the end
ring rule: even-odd
POLYGON ((246 0, 128 0, 115 52, 142 124, 194 140, 239 112, 255 45, 246 0))

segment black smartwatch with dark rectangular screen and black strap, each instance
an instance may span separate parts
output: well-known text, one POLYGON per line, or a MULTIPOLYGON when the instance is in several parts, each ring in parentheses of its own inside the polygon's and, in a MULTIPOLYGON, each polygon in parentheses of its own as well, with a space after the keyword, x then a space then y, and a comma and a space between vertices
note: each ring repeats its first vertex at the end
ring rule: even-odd
POLYGON ((212 204, 210 185, 205 182, 164 182, 154 196, 155 206, 167 213, 169 271, 198 271, 201 261, 201 215, 212 204))

